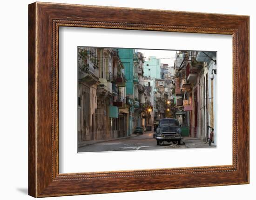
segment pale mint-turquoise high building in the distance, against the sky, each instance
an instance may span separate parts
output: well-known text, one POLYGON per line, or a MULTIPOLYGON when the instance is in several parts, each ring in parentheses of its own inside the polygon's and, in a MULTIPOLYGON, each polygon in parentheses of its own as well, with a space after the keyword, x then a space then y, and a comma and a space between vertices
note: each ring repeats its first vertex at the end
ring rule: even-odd
POLYGON ((149 60, 144 62, 144 77, 161 78, 161 60, 155 56, 149 56, 149 60))

